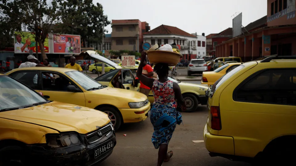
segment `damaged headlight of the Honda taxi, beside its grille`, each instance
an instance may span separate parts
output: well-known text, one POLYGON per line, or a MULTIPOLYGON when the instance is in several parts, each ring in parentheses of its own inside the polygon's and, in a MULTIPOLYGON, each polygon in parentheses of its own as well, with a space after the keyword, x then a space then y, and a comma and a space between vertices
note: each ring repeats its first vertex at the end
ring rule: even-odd
POLYGON ((61 148, 80 144, 79 135, 76 133, 65 133, 65 134, 47 134, 46 135, 47 145, 52 148, 61 148))

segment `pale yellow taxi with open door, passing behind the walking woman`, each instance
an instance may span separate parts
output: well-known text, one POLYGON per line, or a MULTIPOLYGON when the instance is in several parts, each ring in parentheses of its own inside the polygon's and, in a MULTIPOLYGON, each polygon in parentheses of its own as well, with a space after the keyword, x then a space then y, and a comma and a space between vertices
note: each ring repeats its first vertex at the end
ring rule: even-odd
MULTIPOLYGON (((121 80, 125 89, 139 91, 140 83, 136 80, 136 71, 138 68, 130 67, 121 69, 121 80)), ((120 72, 119 69, 112 70, 100 77, 95 78, 102 85, 113 87, 112 80, 113 78, 120 72)), ((168 77, 169 80, 178 83, 181 89, 181 93, 186 102, 187 110, 186 112, 193 112, 197 110, 198 105, 206 105, 207 97, 205 96, 205 92, 208 90, 208 86, 197 85, 192 83, 181 82, 178 79, 173 77, 168 77)), ((154 97, 152 91, 149 93, 149 102, 152 104, 154 102, 154 97)))

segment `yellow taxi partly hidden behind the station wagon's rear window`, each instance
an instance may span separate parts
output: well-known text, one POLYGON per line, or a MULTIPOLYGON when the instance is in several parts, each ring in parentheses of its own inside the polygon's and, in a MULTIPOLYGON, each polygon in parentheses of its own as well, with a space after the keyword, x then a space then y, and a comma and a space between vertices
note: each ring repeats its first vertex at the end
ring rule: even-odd
POLYGON ((228 73, 232 69, 236 68, 237 66, 241 65, 241 63, 229 63, 224 64, 223 66, 219 67, 214 71, 207 71, 203 72, 201 84, 210 86, 213 85, 220 77, 222 77, 225 73, 228 73))

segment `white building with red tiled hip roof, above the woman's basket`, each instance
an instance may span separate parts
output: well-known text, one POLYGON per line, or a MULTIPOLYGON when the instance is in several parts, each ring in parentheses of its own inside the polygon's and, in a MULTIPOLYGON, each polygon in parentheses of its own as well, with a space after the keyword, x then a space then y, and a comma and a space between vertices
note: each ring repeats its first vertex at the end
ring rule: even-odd
POLYGON ((151 46, 159 43, 160 45, 176 43, 180 46, 180 53, 183 59, 195 59, 196 57, 206 56, 206 37, 201 35, 189 34, 177 27, 161 25, 143 34, 144 42, 151 46))

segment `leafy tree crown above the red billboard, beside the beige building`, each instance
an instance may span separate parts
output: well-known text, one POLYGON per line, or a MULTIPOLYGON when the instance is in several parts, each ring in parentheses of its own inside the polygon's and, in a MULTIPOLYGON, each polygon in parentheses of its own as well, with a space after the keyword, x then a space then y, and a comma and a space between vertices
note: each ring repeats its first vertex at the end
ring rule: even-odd
POLYGON ((102 43, 103 20, 104 26, 110 24, 103 7, 92 0, 60 0, 62 9, 62 24, 59 25, 60 33, 80 35, 81 41, 87 43, 102 43))

